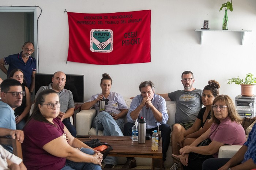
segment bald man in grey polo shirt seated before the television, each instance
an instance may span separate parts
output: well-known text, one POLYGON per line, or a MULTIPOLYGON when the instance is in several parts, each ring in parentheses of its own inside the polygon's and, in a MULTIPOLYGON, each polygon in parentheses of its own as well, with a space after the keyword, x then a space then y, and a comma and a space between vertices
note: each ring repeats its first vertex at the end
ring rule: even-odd
POLYGON ((64 89, 66 84, 66 75, 63 72, 56 72, 52 77, 52 83, 49 86, 42 86, 35 94, 35 99, 38 94, 46 89, 53 89, 60 97, 60 114, 58 118, 67 127, 72 136, 76 137, 76 128, 71 124, 70 118, 75 111, 73 94, 70 90, 64 89))

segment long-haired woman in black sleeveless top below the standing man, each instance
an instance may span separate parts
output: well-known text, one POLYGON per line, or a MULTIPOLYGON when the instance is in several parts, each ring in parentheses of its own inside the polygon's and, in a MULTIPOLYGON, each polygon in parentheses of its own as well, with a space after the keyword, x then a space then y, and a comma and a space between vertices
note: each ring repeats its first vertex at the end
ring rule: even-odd
POLYGON ((22 84, 22 91, 26 92, 23 94, 22 104, 14 110, 16 129, 22 130, 26 124, 27 116, 31 108, 29 88, 26 86, 23 71, 20 69, 12 70, 8 78, 18 80, 20 84, 22 84))

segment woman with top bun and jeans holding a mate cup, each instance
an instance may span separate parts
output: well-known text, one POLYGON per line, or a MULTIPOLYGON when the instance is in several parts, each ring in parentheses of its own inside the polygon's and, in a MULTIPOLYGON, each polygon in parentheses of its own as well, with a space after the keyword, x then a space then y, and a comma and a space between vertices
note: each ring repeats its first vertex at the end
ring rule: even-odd
MULTIPOLYGON (((97 116, 94 117, 92 127, 103 131, 104 136, 123 136, 124 117, 127 115, 128 107, 124 98, 115 92, 110 92, 112 78, 109 74, 102 74, 101 78, 102 93, 95 94, 82 105, 82 110, 88 110, 91 107, 97 110, 97 116), (99 108, 99 101, 105 99, 105 111, 99 108)), ((116 157, 106 157, 105 168, 113 168, 117 164, 116 157)))

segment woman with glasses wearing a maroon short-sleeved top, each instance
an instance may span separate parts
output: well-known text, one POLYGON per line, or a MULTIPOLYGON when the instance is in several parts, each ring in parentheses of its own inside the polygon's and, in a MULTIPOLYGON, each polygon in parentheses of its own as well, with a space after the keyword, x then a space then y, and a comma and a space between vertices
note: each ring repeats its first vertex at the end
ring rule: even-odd
POLYGON ((74 138, 57 118, 59 95, 52 89, 38 94, 23 128, 23 162, 30 170, 101 170, 102 154, 74 138))

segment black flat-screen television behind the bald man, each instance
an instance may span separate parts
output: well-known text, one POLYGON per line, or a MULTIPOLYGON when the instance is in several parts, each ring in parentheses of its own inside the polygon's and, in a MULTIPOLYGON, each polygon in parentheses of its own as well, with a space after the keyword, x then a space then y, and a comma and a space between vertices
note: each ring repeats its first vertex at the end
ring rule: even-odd
MULTIPOLYGON (((52 83, 53 74, 35 74, 35 94, 41 86, 48 86, 52 83)), ((65 89, 73 93, 75 103, 83 103, 84 75, 66 74, 65 89)))

